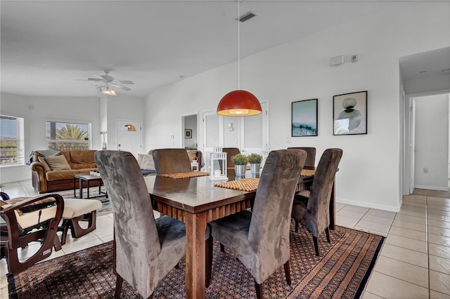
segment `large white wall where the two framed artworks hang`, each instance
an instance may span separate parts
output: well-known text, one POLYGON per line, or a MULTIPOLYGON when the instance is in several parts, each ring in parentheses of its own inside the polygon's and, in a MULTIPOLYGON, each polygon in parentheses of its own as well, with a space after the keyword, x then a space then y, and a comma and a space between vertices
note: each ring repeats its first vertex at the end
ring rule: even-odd
MULTIPOLYGON (((340 147, 344 154, 336 176, 337 201, 398 211, 403 109, 399 57, 449 46, 449 28, 442 26, 450 18, 448 8, 443 2, 411 3, 403 11, 347 20, 241 59, 240 88, 269 101, 272 149, 314 146, 319 160, 326 148, 340 147), (330 58, 351 54, 359 54, 360 60, 330 67, 330 58), (368 134, 333 136, 333 95, 354 91, 368 91, 368 134), (291 102, 309 98, 319 98, 319 136, 290 138, 291 102)), ((236 62, 223 65, 150 93, 146 147, 180 146, 181 118, 176 116, 195 113, 192 107, 216 109, 221 97, 236 89, 236 69, 236 62)))

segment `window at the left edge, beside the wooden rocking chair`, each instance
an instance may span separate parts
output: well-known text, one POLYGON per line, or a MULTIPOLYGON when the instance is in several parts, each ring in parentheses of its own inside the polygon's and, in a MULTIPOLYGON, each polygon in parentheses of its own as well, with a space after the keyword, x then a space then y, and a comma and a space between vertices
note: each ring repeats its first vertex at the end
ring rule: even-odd
POLYGON ((0 166, 24 165, 23 117, 0 114, 0 166))

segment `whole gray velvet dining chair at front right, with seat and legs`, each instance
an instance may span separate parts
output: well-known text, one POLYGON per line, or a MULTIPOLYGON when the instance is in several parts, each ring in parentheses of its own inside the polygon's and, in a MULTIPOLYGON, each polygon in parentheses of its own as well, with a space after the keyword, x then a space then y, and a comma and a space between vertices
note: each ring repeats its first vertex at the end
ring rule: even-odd
POLYGON ((252 211, 240 211, 208 224, 208 251, 212 251, 213 238, 229 248, 254 277, 257 298, 262 298, 262 283, 282 265, 290 284, 290 214, 306 156, 300 150, 271 151, 259 178, 252 211))

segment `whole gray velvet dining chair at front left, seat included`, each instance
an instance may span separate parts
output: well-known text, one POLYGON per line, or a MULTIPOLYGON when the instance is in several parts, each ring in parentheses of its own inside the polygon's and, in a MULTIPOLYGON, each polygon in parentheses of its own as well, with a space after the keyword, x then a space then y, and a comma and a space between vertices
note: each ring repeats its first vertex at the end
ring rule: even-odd
POLYGON ((95 161, 114 215, 115 298, 120 298, 124 279, 143 298, 153 298, 158 282, 186 253, 184 223, 168 216, 155 220, 146 182, 131 153, 98 151, 95 161))

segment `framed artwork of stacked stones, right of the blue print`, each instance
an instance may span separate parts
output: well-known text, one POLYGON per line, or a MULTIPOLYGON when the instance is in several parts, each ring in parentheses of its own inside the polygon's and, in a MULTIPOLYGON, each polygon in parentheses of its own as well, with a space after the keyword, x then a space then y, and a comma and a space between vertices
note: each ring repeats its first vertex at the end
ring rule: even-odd
POLYGON ((333 96, 333 135, 367 134, 367 91, 333 96))

